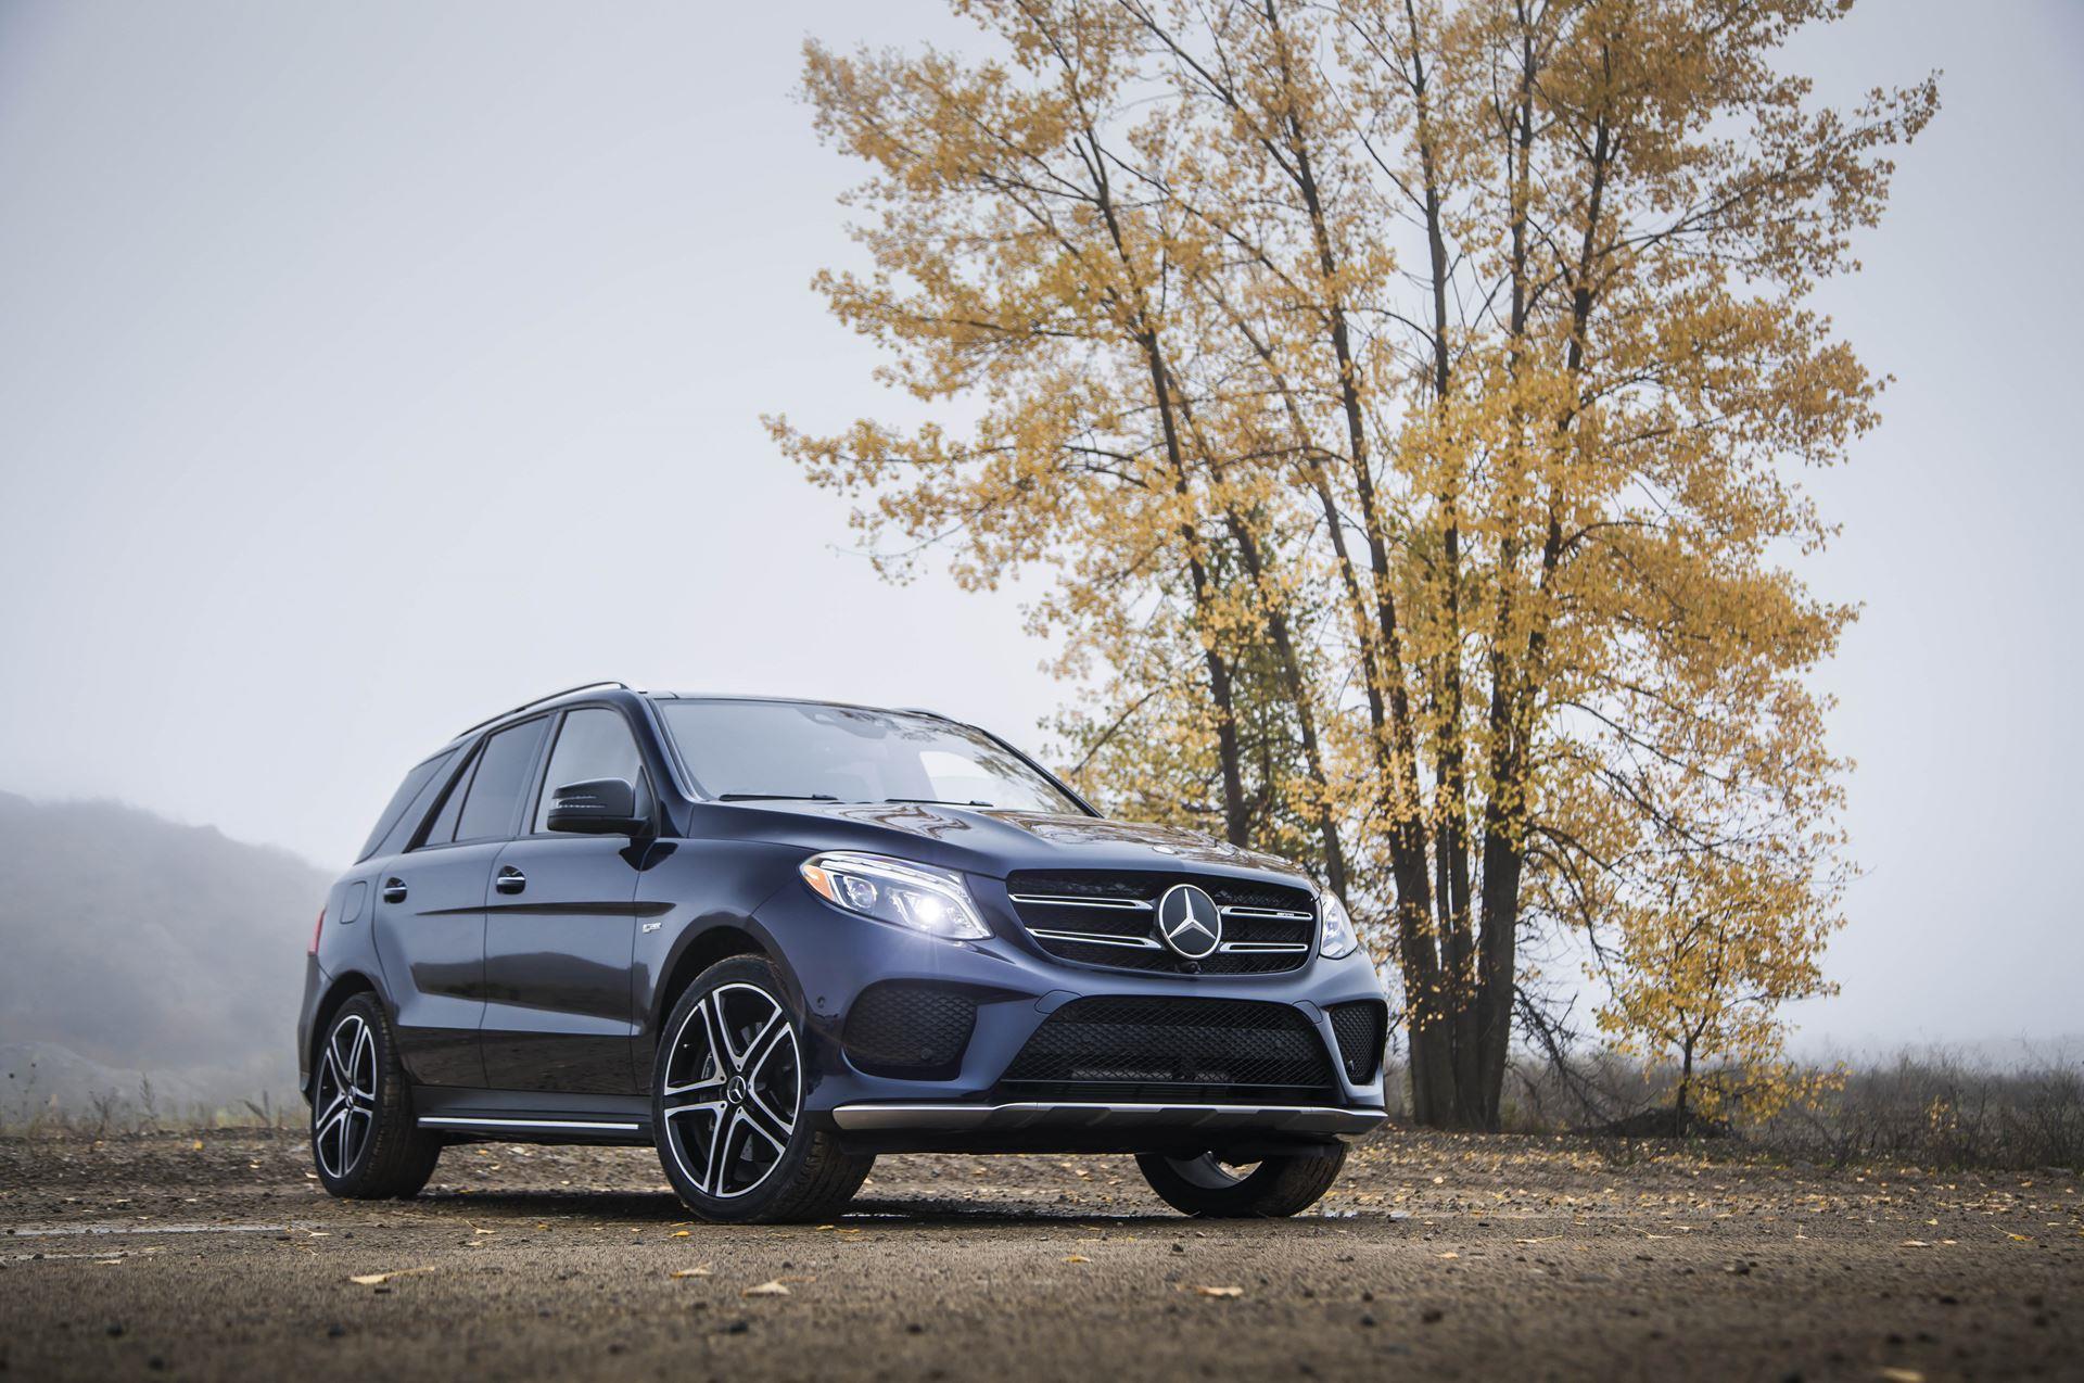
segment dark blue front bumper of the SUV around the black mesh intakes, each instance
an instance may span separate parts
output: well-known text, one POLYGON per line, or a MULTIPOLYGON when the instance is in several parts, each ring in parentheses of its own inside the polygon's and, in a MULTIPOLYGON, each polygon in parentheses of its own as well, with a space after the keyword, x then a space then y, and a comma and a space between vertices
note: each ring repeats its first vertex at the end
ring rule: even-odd
MULTIPOLYGON (((1380 1060, 1367 1079, 1350 1079, 1328 1010, 1355 1000, 1382 1002, 1365 952, 1342 960, 1311 956, 1277 975, 1148 975, 1082 966, 1032 944, 1002 889, 973 881, 996 933, 946 941, 852 916, 809 889, 782 889, 759 910, 775 954, 798 987, 798 1012, 811 1041, 811 1089, 804 1112, 848 1146, 884 1152, 1084 1150, 1167 1152, 1248 1146, 1323 1143, 1367 1133, 1384 1121, 1380 1060), (1000 904, 1000 906, 994 906, 1000 904), (846 1043, 854 1000, 877 983, 959 989, 975 1000, 975 1025, 959 1062, 936 1079, 863 1071, 846 1043), (1052 1012, 1075 1000, 1244 1000, 1300 1014, 1323 1048, 1328 1079, 1319 1089, 1252 1098, 1248 1089, 1217 1100, 1190 1087, 1177 1093, 1050 1089, 1009 1085, 1007 1073, 1052 1012)), ((1290 1019, 1292 1023, 1292 1019, 1290 1019)), ((1119 1083, 1115 1083, 1119 1085, 1119 1083)))

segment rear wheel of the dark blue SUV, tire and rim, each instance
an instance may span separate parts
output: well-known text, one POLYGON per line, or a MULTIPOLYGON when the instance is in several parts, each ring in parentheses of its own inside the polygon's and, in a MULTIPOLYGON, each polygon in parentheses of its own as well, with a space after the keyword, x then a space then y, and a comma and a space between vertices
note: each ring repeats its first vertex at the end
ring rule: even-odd
POLYGON ((311 1160, 344 1200, 419 1196, 442 1137, 419 1127, 383 1006, 356 994, 325 1029, 311 1077, 311 1160))

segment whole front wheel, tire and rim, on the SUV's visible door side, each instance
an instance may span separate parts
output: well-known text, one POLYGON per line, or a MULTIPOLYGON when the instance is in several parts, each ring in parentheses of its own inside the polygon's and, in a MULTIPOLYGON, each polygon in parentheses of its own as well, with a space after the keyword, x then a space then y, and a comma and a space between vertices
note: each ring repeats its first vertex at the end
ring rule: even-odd
POLYGON ((652 1060, 659 1162, 681 1202, 723 1225, 829 1218, 873 1154, 848 1154, 802 1118, 802 1021, 765 956, 696 975, 652 1060))

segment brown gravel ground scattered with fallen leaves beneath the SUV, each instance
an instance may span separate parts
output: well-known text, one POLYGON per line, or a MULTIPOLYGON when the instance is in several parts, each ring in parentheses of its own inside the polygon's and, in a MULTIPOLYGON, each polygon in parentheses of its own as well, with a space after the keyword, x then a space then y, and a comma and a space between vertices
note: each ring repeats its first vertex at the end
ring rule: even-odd
POLYGON ((292 1135, 0 1139, 0 1373, 2084 1377, 2074 1173, 1388 1133, 1321 1210, 1196 1223, 1127 1158, 948 1156, 884 1158, 836 1225, 725 1229, 636 1150, 452 1148, 354 1204, 292 1135))

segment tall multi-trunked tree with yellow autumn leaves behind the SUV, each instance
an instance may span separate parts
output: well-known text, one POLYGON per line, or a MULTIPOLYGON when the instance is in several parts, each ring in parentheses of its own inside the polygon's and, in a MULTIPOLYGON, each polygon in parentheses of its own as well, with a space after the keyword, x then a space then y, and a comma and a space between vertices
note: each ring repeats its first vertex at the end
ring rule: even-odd
POLYGON ((821 290, 973 421, 773 429, 894 560, 1055 567, 1082 783, 1313 862, 1428 1123, 1496 1125, 1523 933, 1736 916, 1644 858, 1828 931, 1828 852, 1738 841, 1836 848, 1851 610, 1790 562, 1878 383, 1807 298, 1934 85, 1811 108, 1836 0, 957 8, 996 56, 811 44, 807 94, 871 169, 821 290))

